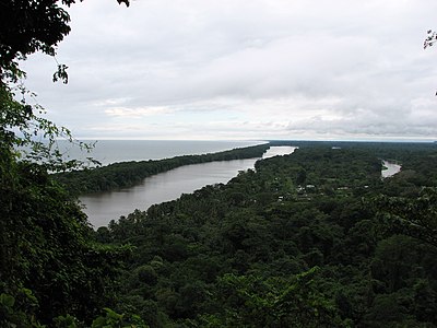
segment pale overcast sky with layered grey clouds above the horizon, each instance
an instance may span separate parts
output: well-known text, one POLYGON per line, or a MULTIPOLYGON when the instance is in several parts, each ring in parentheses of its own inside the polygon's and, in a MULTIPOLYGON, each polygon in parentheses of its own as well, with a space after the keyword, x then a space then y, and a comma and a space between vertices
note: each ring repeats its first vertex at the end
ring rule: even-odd
POLYGON ((86 0, 23 65, 92 139, 437 140, 435 0, 86 0))

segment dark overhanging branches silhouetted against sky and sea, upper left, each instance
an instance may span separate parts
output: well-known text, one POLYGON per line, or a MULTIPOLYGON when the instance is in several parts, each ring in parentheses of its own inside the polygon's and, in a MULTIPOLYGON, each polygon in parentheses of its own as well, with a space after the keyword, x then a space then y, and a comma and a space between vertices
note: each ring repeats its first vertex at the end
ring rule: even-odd
MULTIPOLYGON (((82 1, 82 0, 81 0, 82 1)), ((129 1, 125 2, 127 5, 129 1)), ((56 55, 58 44, 70 32, 67 9, 76 0, 9 0, 0 1, 0 143, 2 152, 16 156, 17 147, 26 147, 28 161, 45 162, 50 171, 62 171, 80 164, 64 162, 54 148, 56 138, 73 141, 68 128, 59 127, 42 115, 45 109, 28 99, 34 97, 21 82, 25 72, 20 61, 42 51, 56 55), (20 101, 17 101, 20 99, 20 101), (40 142, 44 140, 44 142, 40 142)), ((67 66, 58 65, 54 81, 67 83, 67 66)), ((88 149, 85 143, 80 148, 88 149)), ((23 160, 23 159, 22 159, 23 160)))

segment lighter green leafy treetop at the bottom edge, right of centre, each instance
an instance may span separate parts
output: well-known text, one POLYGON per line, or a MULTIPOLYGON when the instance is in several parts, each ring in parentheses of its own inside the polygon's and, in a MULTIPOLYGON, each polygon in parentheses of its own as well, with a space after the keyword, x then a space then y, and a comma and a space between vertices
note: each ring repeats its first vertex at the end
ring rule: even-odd
POLYGON ((225 274, 217 292, 223 312, 213 321, 231 327, 346 327, 332 301, 317 290, 316 271, 292 279, 225 274))

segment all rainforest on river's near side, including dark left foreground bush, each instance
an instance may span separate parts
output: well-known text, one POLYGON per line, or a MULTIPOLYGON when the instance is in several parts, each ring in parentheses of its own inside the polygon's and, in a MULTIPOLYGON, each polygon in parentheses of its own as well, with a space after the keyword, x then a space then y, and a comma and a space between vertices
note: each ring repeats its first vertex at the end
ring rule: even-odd
POLYGON ((270 145, 298 149, 97 231, 17 165, 3 326, 435 327, 436 144, 270 145), (402 171, 382 179, 387 159, 402 171))

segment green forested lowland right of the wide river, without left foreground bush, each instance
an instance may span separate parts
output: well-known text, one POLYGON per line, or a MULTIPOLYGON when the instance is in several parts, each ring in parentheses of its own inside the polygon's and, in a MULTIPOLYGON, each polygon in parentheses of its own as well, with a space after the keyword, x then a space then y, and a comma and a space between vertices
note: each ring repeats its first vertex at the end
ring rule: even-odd
POLYGON ((116 309, 151 327, 434 327, 436 152, 398 147, 300 144, 101 227, 134 246, 116 309), (376 153, 405 171, 382 180, 376 153))

